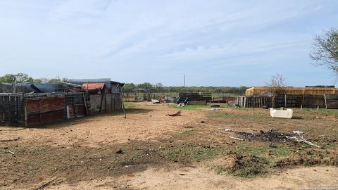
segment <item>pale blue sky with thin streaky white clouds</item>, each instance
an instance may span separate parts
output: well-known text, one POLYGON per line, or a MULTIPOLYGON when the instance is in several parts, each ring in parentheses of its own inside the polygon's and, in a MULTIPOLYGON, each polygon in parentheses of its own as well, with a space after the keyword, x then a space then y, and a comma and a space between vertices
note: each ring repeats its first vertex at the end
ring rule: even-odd
POLYGON ((338 1, 0 0, 0 75, 182 86, 334 84, 311 65, 338 1))

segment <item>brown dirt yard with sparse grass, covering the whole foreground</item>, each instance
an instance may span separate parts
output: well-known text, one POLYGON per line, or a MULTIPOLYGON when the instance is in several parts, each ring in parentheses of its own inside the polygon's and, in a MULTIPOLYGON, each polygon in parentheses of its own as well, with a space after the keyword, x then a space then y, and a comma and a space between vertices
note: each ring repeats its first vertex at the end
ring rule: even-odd
POLYGON ((338 110, 284 120, 260 108, 188 106, 170 117, 179 109, 126 106, 126 119, 0 127, 0 189, 338 188, 338 110), (287 139, 293 130, 320 148, 287 139))

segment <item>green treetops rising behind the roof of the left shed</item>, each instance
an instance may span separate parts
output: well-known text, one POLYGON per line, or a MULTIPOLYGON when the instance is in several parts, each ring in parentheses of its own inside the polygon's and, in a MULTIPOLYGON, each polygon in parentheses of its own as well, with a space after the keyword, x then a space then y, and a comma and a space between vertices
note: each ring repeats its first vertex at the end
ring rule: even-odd
POLYGON ((0 77, 0 83, 25 83, 25 82, 37 82, 37 83, 48 83, 48 82, 68 82, 67 78, 40 78, 34 79, 33 77, 28 76, 25 73, 18 74, 6 74, 0 77))

